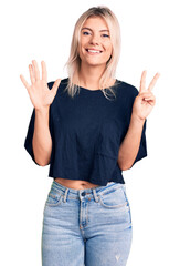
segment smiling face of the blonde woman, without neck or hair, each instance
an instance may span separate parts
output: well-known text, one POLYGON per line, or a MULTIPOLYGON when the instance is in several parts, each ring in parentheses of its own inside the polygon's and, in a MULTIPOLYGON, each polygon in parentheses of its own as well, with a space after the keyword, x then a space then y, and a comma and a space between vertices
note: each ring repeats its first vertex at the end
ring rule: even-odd
POLYGON ((81 30, 78 54, 83 63, 104 65, 113 53, 110 32, 100 17, 88 18, 81 30))

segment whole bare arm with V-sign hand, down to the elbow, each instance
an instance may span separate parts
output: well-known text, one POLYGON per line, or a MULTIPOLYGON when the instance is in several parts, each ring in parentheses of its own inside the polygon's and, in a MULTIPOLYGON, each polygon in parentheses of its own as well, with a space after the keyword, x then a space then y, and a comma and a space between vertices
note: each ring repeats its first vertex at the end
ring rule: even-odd
POLYGON ((128 170, 134 164, 139 150, 144 123, 156 103, 156 98, 152 94, 151 90, 155 86, 155 83, 160 74, 157 73, 153 76, 152 81, 149 84, 149 88, 146 90, 146 73, 147 72, 144 71, 141 74, 140 90, 139 94, 134 101, 129 127, 119 147, 117 162, 121 170, 128 170))

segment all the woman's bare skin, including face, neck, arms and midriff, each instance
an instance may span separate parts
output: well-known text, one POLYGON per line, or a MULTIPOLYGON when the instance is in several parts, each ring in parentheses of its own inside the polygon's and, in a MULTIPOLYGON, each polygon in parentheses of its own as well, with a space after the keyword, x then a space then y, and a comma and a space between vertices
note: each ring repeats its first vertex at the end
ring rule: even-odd
MULTIPOLYGON (((108 27, 104 19, 100 17, 88 18, 81 31, 81 39, 78 44, 78 53, 81 58, 81 71, 80 71, 80 85, 87 88, 88 90, 99 89, 99 79, 106 68, 106 62, 113 52, 113 45, 108 27), (86 49, 100 50, 102 53, 94 54, 88 53, 86 49)), ((33 150, 34 154, 38 154, 35 161, 44 166, 49 164, 52 140, 49 131, 49 108, 53 102, 60 85, 61 79, 54 82, 52 90, 47 88, 47 72, 45 62, 41 62, 42 65, 42 79, 40 79, 40 71, 35 60, 32 60, 32 64, 29 64, 30 78, 32 85, 30 85, 23 75, 20 79, 28 90, 31 102, 35 108, 35 125, 33 136, 33 150), (45 147, 45 149, 44 149, 45 147), (41 158, 41 160, 40 160, 41 158)), ((131 167, 136 155, 138 153, 142 126, 146 117, 152 111, 156 104, 156 98, 152 93, 152 89, 159 78, 157 73, 150 82, 148 89, 146 89, 146 74, 144 71, 140 80, 139 94, 136 96, 133 113, 130 119, 129 129, 119 147, 117 163, 119 167, 125 171, 131 167)), ((73 83, 76 84, 77 76, 74 75, 73 83)), ((115 80, 109 80, 109 85, 113 85, 115 80)), ((91 188, 96 187, 96 184, 86 181, 74 181, 55 178, 56 182, 62 185, 74 188, 91 188)))

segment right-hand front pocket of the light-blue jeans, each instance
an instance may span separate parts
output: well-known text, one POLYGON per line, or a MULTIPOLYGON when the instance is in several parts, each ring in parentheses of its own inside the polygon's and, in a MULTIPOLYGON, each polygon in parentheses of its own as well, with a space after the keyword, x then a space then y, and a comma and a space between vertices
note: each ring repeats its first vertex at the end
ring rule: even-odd
POLYGON ((121 209, 127 208, 126 206, 128 202, 126 201, 121 186, 99 193, 98 198, 103 207, 121 209))

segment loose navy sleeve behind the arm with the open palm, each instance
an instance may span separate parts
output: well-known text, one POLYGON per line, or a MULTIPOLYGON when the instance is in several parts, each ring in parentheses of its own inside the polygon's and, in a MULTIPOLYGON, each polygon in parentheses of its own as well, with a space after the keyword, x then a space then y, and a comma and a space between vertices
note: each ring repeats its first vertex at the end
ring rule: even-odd
MULTIPOLYGON (((49 85, 49 89, 51 89, 52 88, 52 82, 49 82, 47 85, 49 85)), ((51 105, 50 105, 49 112, 50 112, 49 113, 49 129, 50 129, 50 133, 52 135, 51 105)), ((31 114, 31 117, 30 117, 30 122, 29 122, 29 126, 28 126, 25 141, 24 141, 24 147, 25 147, 27 152, 30 154, 33 162, 35 164, 38 164, 35 162, 35 158, 34 158, 33 146, 32 146, 32 139, 33 139, 33 133, 34 133, 34 122, 35 122, 35 109, 33 108, 33 111, 32 111, 32 114, 31 114)), ((40 164, 38 164, 38 165, 40 165, 40 164)))

